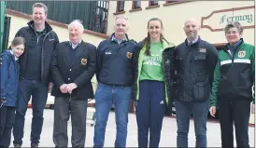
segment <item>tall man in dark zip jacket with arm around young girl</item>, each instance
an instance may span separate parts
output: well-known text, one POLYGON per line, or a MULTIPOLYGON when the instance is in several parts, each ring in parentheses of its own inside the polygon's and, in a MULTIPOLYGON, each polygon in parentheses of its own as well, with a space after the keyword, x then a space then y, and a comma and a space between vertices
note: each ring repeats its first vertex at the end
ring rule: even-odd
POLYGON ((32 96, 33 119, 31 125, 31 146, 37 147, 43 127, 43 113, 51 84, 50 61, 55 45, 59 43, 57 34, 52 31, 47 18, 48 8, 42 3, 32 7, 33 20, 22 27, 16 36, 26 40, 25 51, 20 57, 20 89, 15 125, 13 128, 15 147, 21 147, 25 114, 32 96))

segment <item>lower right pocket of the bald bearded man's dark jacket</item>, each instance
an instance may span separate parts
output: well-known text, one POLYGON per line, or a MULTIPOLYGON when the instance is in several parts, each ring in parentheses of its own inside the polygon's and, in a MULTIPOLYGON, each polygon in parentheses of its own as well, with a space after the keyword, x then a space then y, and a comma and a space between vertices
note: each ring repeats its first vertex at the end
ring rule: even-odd
POLYGON ((196 84, 193 86, 195 101, 206 101, 209 99, 210 87, 207 84, 196 84))

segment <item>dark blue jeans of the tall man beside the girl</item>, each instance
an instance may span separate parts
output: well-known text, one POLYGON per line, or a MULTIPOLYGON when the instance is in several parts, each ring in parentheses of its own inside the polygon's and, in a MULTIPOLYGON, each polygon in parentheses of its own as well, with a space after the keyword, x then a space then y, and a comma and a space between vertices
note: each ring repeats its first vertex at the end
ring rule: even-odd
POLYGON ((19 99, 15 114, 15 124, 13 127, 13 144, 22 144, 24 135, 24 122, 27 105, 32 96, 33 118, 31 125, 30 141, 31 145, 39 143, 43 127, 43 114, 48 97, 48 84, 42 84, 36 80, 22 78, 19 85, 19 99))

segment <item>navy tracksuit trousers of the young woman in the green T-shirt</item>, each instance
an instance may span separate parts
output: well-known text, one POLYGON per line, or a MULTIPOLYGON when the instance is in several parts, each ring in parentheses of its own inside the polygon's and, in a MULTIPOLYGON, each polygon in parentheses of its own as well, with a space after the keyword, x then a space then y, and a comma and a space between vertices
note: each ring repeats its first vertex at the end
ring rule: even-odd
POLYGON ((158 147, 164 119, 164 82, 143 80, 136 102, 138 147, 158 147))

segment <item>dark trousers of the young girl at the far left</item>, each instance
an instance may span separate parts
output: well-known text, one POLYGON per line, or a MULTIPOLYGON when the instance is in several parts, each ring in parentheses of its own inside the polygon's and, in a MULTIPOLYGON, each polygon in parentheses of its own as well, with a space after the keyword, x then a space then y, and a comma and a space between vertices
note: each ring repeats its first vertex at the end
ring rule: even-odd
POLYGON ((9 147, 11 128, 15 122, 15 107, 2 106, 0 108, 0 146, 9 147))

